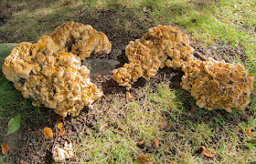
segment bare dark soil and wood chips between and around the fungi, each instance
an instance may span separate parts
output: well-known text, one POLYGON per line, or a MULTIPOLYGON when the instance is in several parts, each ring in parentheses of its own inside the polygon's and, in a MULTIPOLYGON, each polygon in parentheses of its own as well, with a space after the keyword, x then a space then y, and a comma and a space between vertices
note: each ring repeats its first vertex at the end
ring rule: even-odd
MULTIPOLYGON (((112 80, 111 71, 114 68, 123 66, 127 61, 127 58, 124 56, 124 48, 128 45, 129 41, 140 38, 144 35, 138 31, 146 32, 149 27, 155 25, 142 26, 139 22, 131 20, 131 22, 133 22, 131 29, 134 28, 140 30, 126 31, 122 28, 117 29, 114 24, 112 24, 114 16, 117 15, 115 12, 99 11, 98 15, 99 16, 97 18, 95 18, 95 16, 93 17, 90 13, 80 13, 79 16, 73 17, 67 16, 67 20, 90 24, 95 29, 105 33, 112 42, 112 52, 109 55, 92 56, 83 62, 84 65, 91 69, 92 82, 100 87, 104 92, 104 96, 93 104, 93 107, 97 107, 97 109, 91 110, 91 108, 84 108, 81 111, 80 116, 76 118, 67 117, 64 120, 61 120, 64 123, 65 133, 59 137, 57 135, 56 126, 58 116, 54 114, 53 110, 41 108, 40 112, 44 115, 48 115, 48 119, 38 118, 37 121, 23 119, 22 126, 18 131, 16 131, 16 133, 8 136, 0 135, 10 147, 10 151, 5 159, 6 162, 51 163, 53 162, 51 149, 54 145, 58 143, 63 144, 64 141, 67 140, 73 141, 74 146, 79 145, 80 139, 78 136, 80 133, 87 134, 90 130, 99 131, 99 128, 96 126, 97 121, 105 115, 122 117, 123 113, 112 113, 112 111, 107 110, 108 106, 112 103, 112 99, 125 99, 126 92, 124 87, 119 87, 112 80), (56 134, 53 138, 44 137, 43 128, 45 127, 49 127, 54 130, 56 134)), ((0 16, 0 26, 5 24, 7 17, 8 16, 5 15, 0 16)), ((209 46, 204 49, 196 45, 200 45, 200 43, 192 41, 192 46, 194 46, 196 51, 206 57, 212 56, 219 60, 226 59, 227 61, 232 62, 235 55, 239 54, 242 56, 241 52, 231 49, 229 46, 209 46), (227 57, 223 56, 223 54, 227 55, 227 57)), ((162 81, 170 82, 170 87, 172 88, 180 88, 179 83, 182 75, 183 72, 181 70, 163 68, 160 69, 158 74, 155 77, 152 77, 149 81, 145 81, 140 78, 131 89, 131 92, 133 92, 133 98, 139 98, 139 91, 144 88, 145 85, 150 84, 151 86, 155 86, 162 81)), ((190 100, 187 100, 187 103, 185 104, 189 111, 191 109, 190 100)), ((213 112, 210 116, 206 116, 206 119, 211 118, 212 115, 218 115, 218 113, 213 112)), ((3 122, 0 126, 5 127, 5 125, 6 122, 3 122)), ((147 150, 150 151, 150 148, 147 150)))

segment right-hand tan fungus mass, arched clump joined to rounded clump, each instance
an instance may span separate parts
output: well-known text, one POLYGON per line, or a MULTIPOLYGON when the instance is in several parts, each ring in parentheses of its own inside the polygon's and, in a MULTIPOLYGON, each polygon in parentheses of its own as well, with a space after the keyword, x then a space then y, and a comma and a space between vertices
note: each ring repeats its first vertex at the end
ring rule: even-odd
POLYGON ((139 77, 149 80, 163 67, 181 68, 180 85, 195 97, 199 108, 243 110, 251 101, 253 79, 242 65, 207 58, 194 60, 186 34, 173 26, 155 26, 125 48, 129 63, 114 69, 113 79, 129 90, 139 77))

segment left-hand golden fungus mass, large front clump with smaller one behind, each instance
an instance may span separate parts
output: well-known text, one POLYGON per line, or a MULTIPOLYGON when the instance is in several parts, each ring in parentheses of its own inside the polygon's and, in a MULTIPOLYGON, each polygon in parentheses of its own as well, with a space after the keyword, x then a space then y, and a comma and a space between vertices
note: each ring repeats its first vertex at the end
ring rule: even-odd
POLYGON ((81 58, 93 51, 109 53, 110 49, 111 43, 103 33, 91 26, 67 22, 35 44, 18 44, 5 57, 2 70, 23 97, 34 99, 34 106, 54 108, 64 118, 77 116, 103 94, 91 83, 90 70, 81 66, 81 58))

